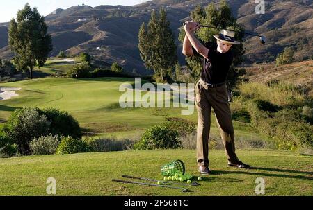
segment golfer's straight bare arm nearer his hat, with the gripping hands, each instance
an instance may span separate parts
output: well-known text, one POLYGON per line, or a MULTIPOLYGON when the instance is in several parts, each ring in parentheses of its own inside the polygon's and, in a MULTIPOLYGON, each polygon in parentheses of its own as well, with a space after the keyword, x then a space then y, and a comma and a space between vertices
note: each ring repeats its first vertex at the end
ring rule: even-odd
POLYGON ((198 27, 199 25, 197 23, 188 22, 188 24, 185 25, 186 36, 188 37, 188 41, 191 43, 191 46, 193 46, 193 48, 200 55, 208 59, 209 49, 207 49, 203 44, 201 44, 201 42, 199 42, 199 40, 195 37, 195 34, 193 33, 193 31, 196 30, 198 27))

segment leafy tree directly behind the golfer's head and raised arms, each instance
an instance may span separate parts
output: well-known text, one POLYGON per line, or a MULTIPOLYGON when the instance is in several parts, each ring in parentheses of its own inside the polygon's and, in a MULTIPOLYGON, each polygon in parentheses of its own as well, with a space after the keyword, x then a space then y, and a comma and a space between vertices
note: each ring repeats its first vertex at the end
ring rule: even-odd
MULTIPOLYGON (((244 28, 243 26, 237 24, 236 19, 232 16, 231 8, 225 0, 220 1, 218 8, 216 8, 214 3, 210 3, 207 8, 197 6, 193 11, 191 11, 191 17, 194 21, 197 21, 202 25, 240 31, 240 33, 235 34, 235 39, 239 42, 243 41, 244 28)), ((220 30, 218 29, 200 28, 196 32, 196 35, 202 42, 216 42, 213 35, 219 33, 220 30)), ((184 37, 185 32, 182 27, 179 33, 179 41, 184 42, 184 37)), ((244 72, 240 69, 234 68, 234 66, 243 62, 243 54, 245 53, 243 44, 233 45, 232 51, 234 52, 234 61, 227 76, 227 85, 229 89, 233 89, 236 86, 239 82, 239 77, 242 76, 241 73, 244 72)), ((202 58, 199 58, 198 56, 186 57, 186 63, 191 76, 194 80, 197 80, 200 76, 200 72, 202 71, 202 58)))

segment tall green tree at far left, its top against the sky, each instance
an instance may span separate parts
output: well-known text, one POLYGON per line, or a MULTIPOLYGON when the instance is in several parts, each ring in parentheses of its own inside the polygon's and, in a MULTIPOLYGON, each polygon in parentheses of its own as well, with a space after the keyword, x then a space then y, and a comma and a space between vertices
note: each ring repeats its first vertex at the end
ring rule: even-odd
POLYGON ((47 29, 45 17, 40 16, 37 8, 31 9, 29 3, 17 12, 16 20, 10 21, 8 44, 17 53, 14 62, 17 69, 29 70, 31 78, 33 67, 42 67, 53 48, 47 29))

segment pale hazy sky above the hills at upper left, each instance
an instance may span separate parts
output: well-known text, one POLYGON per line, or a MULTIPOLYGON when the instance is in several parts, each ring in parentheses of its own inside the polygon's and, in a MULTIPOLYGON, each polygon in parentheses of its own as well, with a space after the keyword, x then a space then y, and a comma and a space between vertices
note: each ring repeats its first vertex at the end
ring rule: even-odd
POLYGON ((17 10, 24 8, 26 3, 29 3, 31 8, 37 7, 40 15, 49 15, 57 8, 66 9, 71 6, 77 6, 85 4, 88 6, 99 6, 99 5, 136 5, 147 0, 6 0, 1 1, 1 12, 0 12, 0 23, 8 22, 13 17, 16 17, 17 10))

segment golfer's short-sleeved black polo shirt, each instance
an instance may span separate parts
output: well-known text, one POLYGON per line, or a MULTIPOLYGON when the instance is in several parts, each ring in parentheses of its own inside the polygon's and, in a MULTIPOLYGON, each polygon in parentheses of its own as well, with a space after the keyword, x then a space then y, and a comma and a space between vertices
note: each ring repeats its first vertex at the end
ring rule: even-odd
POLYGON ((218 45, 216 42, 209 42, 204 46, 209 49, 207 56, 209 59, 204 58, 193 48, 193 55, 199 55, 203 58, 200 78, 210 84, 225 82, 234 58, 232 50, 230 49, 227 53, 220 53, 217 51, 218 45))

